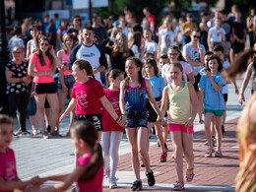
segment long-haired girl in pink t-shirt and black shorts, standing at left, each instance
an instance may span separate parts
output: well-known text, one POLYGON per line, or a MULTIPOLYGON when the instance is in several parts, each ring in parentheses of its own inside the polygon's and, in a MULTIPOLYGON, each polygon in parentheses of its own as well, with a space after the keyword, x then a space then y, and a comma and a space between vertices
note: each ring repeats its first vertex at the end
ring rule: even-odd
POLYGON ((47 98, 52 110, 51 135, 58 136, 58 117, 59 105, 58 96, 54 86, 53 75, 56 71, 56 65, 61 67, 53 46, 49 44, 46 37, 38 40, 39 47, 32 54, 29 64, 29 75, 33 77, 34 98, 36 103, 37 121, 44 139, 49 138, 48 132, 45 131, 44 125, 44 103, 47 98))

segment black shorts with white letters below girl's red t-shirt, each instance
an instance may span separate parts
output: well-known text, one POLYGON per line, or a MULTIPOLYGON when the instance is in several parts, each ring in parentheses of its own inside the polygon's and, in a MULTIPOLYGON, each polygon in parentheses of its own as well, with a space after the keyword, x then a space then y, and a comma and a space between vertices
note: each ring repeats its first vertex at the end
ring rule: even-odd
POLYGON ((76 114, 76 120, 88 120, 95 124, 97 131, 103 131, 102 114, 76 114))

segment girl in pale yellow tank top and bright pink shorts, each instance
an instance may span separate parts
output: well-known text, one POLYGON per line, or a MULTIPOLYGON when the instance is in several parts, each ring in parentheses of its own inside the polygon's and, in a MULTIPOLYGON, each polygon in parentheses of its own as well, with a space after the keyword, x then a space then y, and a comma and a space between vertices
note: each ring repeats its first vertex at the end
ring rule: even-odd
POLYGON ((180 63, 172 62, 169 73, 172 83, 163 90, 160 111, 164 114, 169 103, 168 128, 178 176, 173 189, 183 190, 183 153, 187 161, 186 180, 191 182, 194 178, 193 122, 197 114, 198 100, 193 85, 184 81, 184 72, 180 63))

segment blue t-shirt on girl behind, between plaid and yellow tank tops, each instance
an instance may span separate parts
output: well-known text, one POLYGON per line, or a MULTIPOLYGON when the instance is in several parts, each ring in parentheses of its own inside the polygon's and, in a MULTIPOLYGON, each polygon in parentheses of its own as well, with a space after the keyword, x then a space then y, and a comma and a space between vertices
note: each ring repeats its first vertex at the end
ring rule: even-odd
MULTIPOLYGON (((153 78, 145 78, 151 81, 151 88, 153 96, 160 97, 161 93, 163 91, 163 88, 165 87, 164 79, 162 77, 154 76, 153 78)), ((148 95, 146 96, 148 98, 148 95)))

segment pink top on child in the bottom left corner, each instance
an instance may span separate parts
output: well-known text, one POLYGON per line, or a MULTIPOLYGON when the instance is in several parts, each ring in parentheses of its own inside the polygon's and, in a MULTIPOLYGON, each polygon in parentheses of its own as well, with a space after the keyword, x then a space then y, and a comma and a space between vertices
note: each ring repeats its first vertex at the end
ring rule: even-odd
MULTIPOLYGON (((14 151, 11 148, 6 149, 6 154, 0 152, 0 177, 5 181, 15 181, 17 179, 16 160, 14 151)), ((13 192, 14 190, 1 192, 13 192)))

